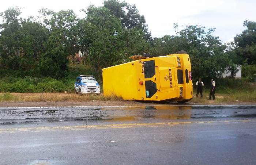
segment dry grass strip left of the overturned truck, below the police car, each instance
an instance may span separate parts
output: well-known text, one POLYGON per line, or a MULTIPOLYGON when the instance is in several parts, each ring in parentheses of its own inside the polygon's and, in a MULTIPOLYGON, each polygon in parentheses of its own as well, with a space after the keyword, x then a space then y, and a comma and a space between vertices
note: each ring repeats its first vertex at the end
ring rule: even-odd
POLYGON ((103 94, 88 94, 88 95, 78 95, 75 93, 1 93, 0 101, 4 102, 30 102, 30 101, 117 101, 123 100, 122 97, 115 95, 104 96, 103 94))

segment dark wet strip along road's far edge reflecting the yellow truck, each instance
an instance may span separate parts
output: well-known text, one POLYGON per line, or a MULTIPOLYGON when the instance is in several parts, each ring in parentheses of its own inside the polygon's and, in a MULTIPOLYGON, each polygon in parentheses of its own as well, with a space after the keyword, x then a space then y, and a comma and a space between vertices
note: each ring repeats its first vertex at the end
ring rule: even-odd
POLYGON ((135 120, 176 120, 206 118, 255 118, 256 106, 138 106, 138 107, 58 107, 0 110, 0 125, 35 122, 135 120), (224 108, 225 107, 225 108, 224 108))

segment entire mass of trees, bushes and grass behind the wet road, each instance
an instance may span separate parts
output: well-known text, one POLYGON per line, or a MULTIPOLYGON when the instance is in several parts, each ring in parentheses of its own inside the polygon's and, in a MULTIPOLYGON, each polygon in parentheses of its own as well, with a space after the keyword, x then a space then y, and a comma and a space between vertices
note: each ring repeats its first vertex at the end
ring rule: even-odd
MULTIPOLYGON (((173 27, 175 35, 153 38, 136 5, 125 1, 106 0, 103 6, 90 5, 82 10, 86 13, 84 18, 77 18, 70 9, 54 12, 45 8, 39 10, 38 17, 22 18, 21 10, 11 7, 0 12, 0 92, 72 93, 80 74, 94 75, 102 87, 101 69, 128 62, 130 55, 167 55, 185 50, 190 55, 194 84, 201 77, 209 88, 214 78, 223 100, 255 99, 255 86, 248 83, 256 81, 256 22, 245 20, 246 29, 234 36, 233 42, 222 43, 214 36, 214 28, 179 28, 177 23, 173 27), (242 80, 233 79, 238 65, 242 67, 242 80), (227 72, 231 78, 222 79, 227 72)), ((102 95, 1 95, 1 101, 73 98, 118 99, 102 95)))

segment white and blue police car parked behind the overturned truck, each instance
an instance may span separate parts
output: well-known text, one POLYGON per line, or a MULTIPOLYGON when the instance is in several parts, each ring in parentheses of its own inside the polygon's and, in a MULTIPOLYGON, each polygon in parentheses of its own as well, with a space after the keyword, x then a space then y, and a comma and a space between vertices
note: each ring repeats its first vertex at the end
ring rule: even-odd
POLYGON ((99 83, 93 78, 93 76, 80 75, 76 77, 75 93, 100 93, 101 87, 99 83))

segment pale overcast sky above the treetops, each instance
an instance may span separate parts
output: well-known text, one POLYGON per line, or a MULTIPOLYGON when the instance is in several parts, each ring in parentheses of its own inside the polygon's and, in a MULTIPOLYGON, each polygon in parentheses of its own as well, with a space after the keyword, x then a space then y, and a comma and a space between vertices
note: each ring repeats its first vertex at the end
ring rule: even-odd
MULTIPOLYGON (((180 29, 186 25, 202 25, 216 28, 214 35, 222 42, 230 42, 240 34, 244 20, 256 21, 256 0, 125 0, 135 4, 146 18, 148 30, 153 37, 174 35, 174 23, 180 29)), ((37 16, 38 9, 54 11, 72 9, 78 17, 85 15, 79 10, 89 5, 103 5, 103 0, 4 0, 0 12, 9 7, 22 7, 22 17, 37 16)))

